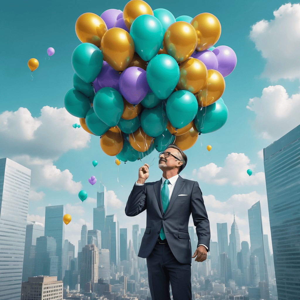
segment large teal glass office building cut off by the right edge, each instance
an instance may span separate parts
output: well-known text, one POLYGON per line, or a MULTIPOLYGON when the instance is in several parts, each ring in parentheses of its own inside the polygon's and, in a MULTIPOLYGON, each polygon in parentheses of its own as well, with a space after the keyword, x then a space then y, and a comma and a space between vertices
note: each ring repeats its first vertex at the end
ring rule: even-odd
POLYGON ((298 300, 300 125, 264 149, 264 167, 278 300, 298 300))

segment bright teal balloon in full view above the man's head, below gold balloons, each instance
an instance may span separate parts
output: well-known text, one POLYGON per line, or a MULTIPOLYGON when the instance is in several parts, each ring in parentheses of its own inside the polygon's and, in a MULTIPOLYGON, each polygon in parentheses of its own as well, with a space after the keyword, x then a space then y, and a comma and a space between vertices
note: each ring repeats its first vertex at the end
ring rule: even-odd
POLYGON ((172 126, 179 129, 193 121, 198 111, 198 102, 191 92, 179 90, 168 98, 166 111, 172 126))

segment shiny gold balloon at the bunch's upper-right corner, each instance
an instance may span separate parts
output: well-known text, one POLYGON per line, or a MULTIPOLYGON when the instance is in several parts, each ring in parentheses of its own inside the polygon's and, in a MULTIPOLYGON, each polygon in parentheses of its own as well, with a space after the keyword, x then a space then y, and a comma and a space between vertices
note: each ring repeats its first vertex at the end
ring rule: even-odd
POLYGON ((221 35, 221 24, 211 13, 200 13, 190 22, 196 29, 197 51, 204 51, 217 43, 221 35))

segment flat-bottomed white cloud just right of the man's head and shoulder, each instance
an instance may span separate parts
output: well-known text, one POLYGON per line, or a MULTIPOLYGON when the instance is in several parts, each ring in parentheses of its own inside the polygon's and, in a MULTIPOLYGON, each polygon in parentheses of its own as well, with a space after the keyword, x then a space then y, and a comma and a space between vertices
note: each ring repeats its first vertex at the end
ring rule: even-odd
POLYGON ((259 172, 249 176, 247 170, 255 168, 255 164, 250 164, 250 159, 244 153, 231 153, 225 159, 224 167, 217 167, 210 163, 193 170, 199 180, 204 182, 223 185, 258 185, 265 182, 265 174, 259 172))

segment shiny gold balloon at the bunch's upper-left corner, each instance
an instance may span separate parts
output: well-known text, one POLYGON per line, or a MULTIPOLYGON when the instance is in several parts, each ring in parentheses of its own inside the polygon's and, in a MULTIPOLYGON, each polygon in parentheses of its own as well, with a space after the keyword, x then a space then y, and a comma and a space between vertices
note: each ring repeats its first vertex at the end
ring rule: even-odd
POLYGON ((75 23, 75 32, 79 40, 97 47, 100 47, 101 39, 106 31, 105 22, 95 13, 83 13, 75 23))

